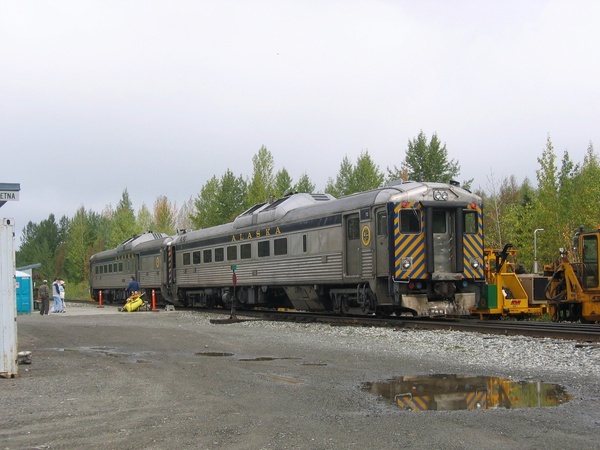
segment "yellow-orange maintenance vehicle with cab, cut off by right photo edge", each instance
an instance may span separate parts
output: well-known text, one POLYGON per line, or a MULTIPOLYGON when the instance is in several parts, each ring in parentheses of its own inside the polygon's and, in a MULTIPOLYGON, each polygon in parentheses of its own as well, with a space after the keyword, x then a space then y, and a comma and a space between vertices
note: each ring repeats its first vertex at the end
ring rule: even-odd
POLYGON ((593 231, 581 227, 571 258, 561 248, 558 261, 544 266, 544 275, 550 277, 546 297, 553 321, 600 321, 599 238, 600 226, 593 231))

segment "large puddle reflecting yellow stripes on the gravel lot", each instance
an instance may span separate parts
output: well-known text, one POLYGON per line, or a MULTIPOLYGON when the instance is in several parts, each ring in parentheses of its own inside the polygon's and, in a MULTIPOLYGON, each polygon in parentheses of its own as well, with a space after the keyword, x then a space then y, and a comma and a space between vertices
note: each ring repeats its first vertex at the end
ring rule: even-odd
POLYGON ((541 408, 573 398, 558 384, 470 375, 395 377, 362 389, 410 411, 541 408))

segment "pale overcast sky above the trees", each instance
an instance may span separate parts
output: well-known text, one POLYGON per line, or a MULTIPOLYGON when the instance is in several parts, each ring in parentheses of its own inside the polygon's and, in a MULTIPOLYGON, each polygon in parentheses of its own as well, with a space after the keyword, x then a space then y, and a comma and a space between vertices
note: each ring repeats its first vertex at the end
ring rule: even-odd
POLYGON ((178 206, 227 169, 323 191, 421 130, 474 188, 600 147, 600 1, 0 0, 2 217, 178 206))

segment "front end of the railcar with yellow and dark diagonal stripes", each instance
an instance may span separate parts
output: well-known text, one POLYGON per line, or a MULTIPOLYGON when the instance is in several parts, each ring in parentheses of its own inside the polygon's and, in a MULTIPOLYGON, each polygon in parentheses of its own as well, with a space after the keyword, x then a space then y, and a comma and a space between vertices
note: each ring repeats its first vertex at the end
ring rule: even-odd
POLYGON ((388 207, 394 293, 414 315, 468 315, 485 286, 481 200, 435 184, 419 197, 388 207))

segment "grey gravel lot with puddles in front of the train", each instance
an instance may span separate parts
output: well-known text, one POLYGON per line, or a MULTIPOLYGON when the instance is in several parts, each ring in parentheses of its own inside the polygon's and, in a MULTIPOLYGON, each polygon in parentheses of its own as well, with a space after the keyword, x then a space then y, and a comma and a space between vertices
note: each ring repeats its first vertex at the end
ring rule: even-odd
POLYGON ((74 304, 18 316, 33 362, 0 379, 0 448, 600 448, 598 345, 211 318, 74 304), (559 383, 574 398, 417 412, 361 390, 443 373, 559 383))

